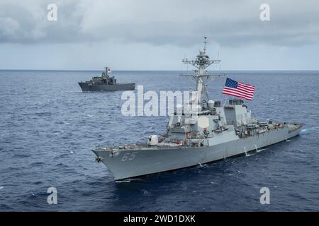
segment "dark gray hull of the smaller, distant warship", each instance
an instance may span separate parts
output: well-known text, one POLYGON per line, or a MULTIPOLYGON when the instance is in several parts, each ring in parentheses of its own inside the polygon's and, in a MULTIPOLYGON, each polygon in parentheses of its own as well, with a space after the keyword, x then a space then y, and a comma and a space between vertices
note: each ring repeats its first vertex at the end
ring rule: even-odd
POLYGON ((114 85, 106 84, 90 84, 90 83, 79 83, 82 91, 118 91, 118 90, 134 90, 135 83, 117 83, 114 85))

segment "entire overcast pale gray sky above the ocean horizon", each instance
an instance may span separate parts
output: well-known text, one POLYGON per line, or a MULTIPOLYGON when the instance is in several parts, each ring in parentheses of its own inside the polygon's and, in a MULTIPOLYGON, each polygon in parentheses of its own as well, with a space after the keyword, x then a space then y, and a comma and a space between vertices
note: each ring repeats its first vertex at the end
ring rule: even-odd
POLYGON ((319 2, 0 0, 0 69, 184 70, 204 36, 223 70, 318 70, 319 2))

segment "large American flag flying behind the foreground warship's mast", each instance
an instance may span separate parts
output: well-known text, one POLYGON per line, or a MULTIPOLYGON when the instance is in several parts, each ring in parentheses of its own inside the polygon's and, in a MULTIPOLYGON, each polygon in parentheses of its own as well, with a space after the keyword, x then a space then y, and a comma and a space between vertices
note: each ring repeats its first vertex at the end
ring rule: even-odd
POLYGON ((246 100, 252 100, 254 89, 254 85, 239 83, 230 78, 227 78, 226 84, 223 89, 223 94, 231 95, 234 97, 242 97, 246 100))

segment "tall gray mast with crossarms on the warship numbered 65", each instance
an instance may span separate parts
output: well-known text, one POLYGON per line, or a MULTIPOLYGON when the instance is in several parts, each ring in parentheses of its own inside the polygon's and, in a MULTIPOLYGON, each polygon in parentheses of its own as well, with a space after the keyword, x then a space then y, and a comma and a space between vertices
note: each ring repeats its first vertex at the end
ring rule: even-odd
POLYGON ((193 74, 181 74, 181 76, 185 77, 193 77, 194 80, 196 81, 196 103, 194 104, 201 104, 201 96, 203 94, 203 86, 204 81, 203 78, 212 78, 212 77, 221 77, 225 76, 225 73, 214 73, 214 74, 209 74, 206 73, 205 69, 208 68, 208 66, 211 66, 211 64, 219 64, 220 60, 219 59, 209 59, 208 55, 206 54, 206 44, 207 44, 207 37, 204 37, 204 47, 203 51, 199 51, 199 54, 197 55, 196 59, 194 60, 189 60, 189 59, 183 59, 182 62, 184 64, 191 64, 194 67, 196 67, 198 70, 195 70, 193 74))

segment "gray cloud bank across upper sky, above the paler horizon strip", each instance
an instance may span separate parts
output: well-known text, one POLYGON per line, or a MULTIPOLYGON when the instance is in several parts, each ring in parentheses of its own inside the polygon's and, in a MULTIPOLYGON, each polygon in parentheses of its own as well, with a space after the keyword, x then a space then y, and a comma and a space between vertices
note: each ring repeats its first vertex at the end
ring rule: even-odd
POLYGON ((223 46, 318 43, 316 1, 267 1, 271 20, 259 20, 264 1, 9 1, 0 3, 1 43, 146 42, 190 46, 204 35, 223 46), (57 22, 47 4, 57 3, 57 22))

